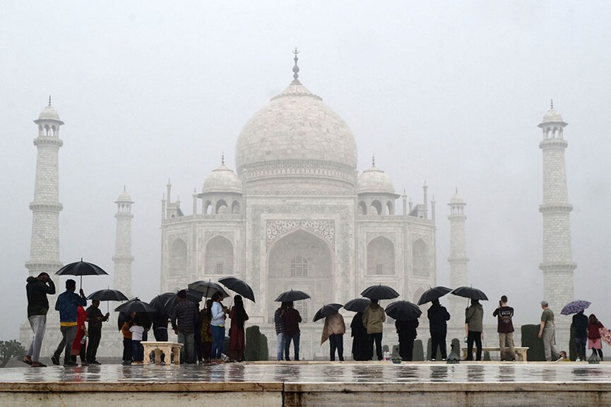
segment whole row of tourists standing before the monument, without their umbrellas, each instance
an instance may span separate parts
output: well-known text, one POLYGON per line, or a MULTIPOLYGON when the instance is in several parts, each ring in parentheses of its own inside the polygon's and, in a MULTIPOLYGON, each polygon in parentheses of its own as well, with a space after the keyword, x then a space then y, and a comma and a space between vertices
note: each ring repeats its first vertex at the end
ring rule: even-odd
MULTIPOLYGON (((32 367, 45 367, 40 361, 40 348, 45 335, 45 325, 49 301, 47 295, 53 295, 56 288, 49 274, 40 273, 37 277, 28 277, 26 284, 28 296, 28 320, 32 328, 33 338, 24 363, 32 367)), ((432 349, 429 360, 436 360, 441 354, 441 359, 448 358, 446 350, 447 322, 451 315, 448 310, 439 303, 439 299, 431 301, 432 305, 427 310, 429 320, 429 334, 431 336, 432 349)), ((64 366, 76 366, 77 358, 82 365, 99 365, 96 359, 97 347, 102 335, 102 324, 109 318, 109 313, 102 313, 100 301, 93 300, 87 307, 87 298, 83 289, 76 293, 76 281, 66 280, 66 291, 61 293, 56 301, 55 310, 59 311, 59 324, 61 341, 54 351, 52 363, 60 364, 62 353, 64 354, 64 366)), ((547 301, 541 301, 542 314, 538 337, 542 340, 545 349, 545 359, 568 360, 565 351, 559 351, 555 340, 554 312, 550 310, 547 301)), ((506 296, 502 296, 499 305, 492 312, 497 317, 497 333, 499 336, 499 349, 501 360, 504 361, 509 354, 509 360, 516 360, 514 346, 514 308, 508 305, 506 296)), ((470 305, 465 310, 465 342, 467 344, 466 360, 473 360, 475 346, 475 360, 482 360, 482 340, 484 309, 479 300, 470 300, 470 305)), ((215 292, 212 298, 206 300, 200 310, 198 303, 191 301, 186 296, 186 291, 177 293, 177 300, 168 314, 164 312, 121 312, 117 321, 117 327, 123 335, 123 363, 125 365, 143 363, 144 355, 142 341, 148 340, 148 334, 152 330, 155 341, 168 340, 168 323, 174 334, 177 334, 179 343, 183 344, 181 358, 184 363, 225 363, 229 361, 244 360, 245 331, 244 323, 249 316, 244 309, 242 296, 232 298, 232 305, 223 305, 223 293, 215 292), (225 344, 225 324, 230 319, 228 332, 229 346, 228 355, 223 354, 225 344)), ((343 335, 346 332, 345 322, 339 312, 327 312, 323 326, 321 344, 329 341, 329 358, 344 360, 343 335)), ((274 313, 274 325, 277 340, 277 360, 299 360, 299 324, 302 317, 295 309, 292 301, 281 303, 274 313), (290 347, 293 344, 292 359, 290 347)), ((382 334, 386 312, 379 305, 379 301, 372 299, 362 310, 356 312, 350 323, 352 336, 352 358, 354 360, 382 360, 382 334)), ((398 335, 398 358, 401 360, 413 360, 413 346, 417 338, 417 318, 408 320, 396 320, 395 327, 398 335)), ((574 329, 576 360, 586 360, 586 343, 592 350, 593 355, 603 359, 602 340, 607 340, 603 335, 611 336, 611 332, 603 327, 603 324, 591 314, 584 315, 584 310, 579 310, 573 316, 571 329, 574 329)), ((162 362, 164 356, 161 356, 162 362)), ((168 361, 169 362, 169 361, 168 361)))

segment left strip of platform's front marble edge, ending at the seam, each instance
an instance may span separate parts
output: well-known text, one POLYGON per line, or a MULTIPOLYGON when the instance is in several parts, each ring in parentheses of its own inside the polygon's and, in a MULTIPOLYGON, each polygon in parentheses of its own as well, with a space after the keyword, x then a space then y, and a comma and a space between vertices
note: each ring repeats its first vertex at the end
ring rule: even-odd
POLYGON ((0 393, 20 392, 256 392, 283 391, 283 382, 4 382, 0 393))

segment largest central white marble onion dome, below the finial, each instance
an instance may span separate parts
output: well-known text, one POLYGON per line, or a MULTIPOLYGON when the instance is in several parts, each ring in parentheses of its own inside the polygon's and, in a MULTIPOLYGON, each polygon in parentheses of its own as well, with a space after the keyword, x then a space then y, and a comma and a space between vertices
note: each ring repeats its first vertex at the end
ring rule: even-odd
POLYGON ((257 165, 331 164, 352 171, 357 145, 348 125, 299 80, 271 99, 237 139, 238 174, 257 165))

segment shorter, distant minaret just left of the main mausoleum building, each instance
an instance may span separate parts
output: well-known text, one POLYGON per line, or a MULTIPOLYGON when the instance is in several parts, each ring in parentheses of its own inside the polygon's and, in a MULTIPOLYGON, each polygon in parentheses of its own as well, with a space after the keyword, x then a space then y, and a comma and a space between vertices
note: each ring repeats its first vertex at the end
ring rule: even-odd
POLYGON ((134 257, 131 257, 131 219, 134 218, 134 214, 131 213, 131 205, 134 202, 124 187, 123 192, 119 194, 119 198, 114 203, 117 204, 117 213, 114 214, 117 219, 117 236, 114 240, 114 256, 112 257, 114 262, 113 286, 131 298, 131 263, 134 262, 134 257))

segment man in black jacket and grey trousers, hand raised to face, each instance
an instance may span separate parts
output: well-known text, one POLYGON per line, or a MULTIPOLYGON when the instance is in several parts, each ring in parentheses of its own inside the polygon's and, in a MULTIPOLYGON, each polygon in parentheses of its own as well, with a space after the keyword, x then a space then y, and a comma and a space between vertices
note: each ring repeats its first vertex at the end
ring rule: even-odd
POLYGON ((49 311, 49 300, 47 294, 55 293, 55 284, 49 278, 49 274, 42 272, 38 277, 28 277, 25 284, 25 292, 28 295, 28 321, 34 337, 23 361, 32 367, 46 367, 40 363, 40 346, 45 337, 45 327, 47 326, 47 311, 49 311))

